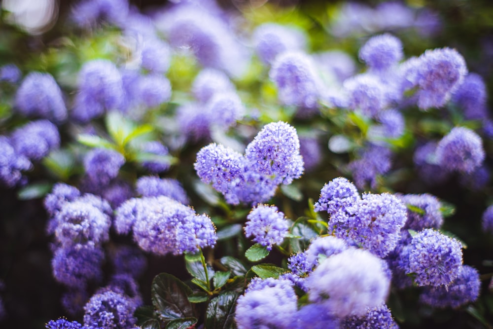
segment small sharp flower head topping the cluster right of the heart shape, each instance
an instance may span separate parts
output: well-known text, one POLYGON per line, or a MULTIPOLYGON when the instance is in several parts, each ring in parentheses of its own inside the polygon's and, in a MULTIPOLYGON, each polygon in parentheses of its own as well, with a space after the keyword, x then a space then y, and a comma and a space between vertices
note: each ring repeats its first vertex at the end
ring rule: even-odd
POLYGON ((327 211, 328 214, 333 214, 354 206, 360 199, 356 186, 346 178, 338 177, 323 185, 314 210, 316 212, 327 211))

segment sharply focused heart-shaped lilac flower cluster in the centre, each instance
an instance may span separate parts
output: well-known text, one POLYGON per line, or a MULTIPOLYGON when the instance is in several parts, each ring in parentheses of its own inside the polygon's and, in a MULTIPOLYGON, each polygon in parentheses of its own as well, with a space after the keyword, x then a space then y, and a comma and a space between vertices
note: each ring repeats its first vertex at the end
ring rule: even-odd
POLYGON ((303 173, 296 130, 284 122, 267 124, 246 146, 245 155, 211 144, 197 153, 194 164, 204 183, 212 183, 230 204, 269 200, 277 185, 303 173))

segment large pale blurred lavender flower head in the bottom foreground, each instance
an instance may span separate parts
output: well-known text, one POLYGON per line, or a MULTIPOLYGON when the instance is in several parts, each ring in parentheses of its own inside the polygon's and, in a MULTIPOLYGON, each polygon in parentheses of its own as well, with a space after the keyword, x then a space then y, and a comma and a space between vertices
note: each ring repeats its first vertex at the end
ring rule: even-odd
POLYGON ((362 316, 385 302, 389 279, 383 260, 361 249, 327 257, 307 279, 308 299, 339 317, 362 316))

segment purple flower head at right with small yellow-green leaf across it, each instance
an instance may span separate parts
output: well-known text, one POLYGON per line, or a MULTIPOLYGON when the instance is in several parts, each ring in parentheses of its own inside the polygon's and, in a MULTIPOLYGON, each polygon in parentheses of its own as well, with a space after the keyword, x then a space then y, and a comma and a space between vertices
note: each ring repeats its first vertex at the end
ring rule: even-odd
POLYGON ((398 195, 398 198, 408 205, 408 219, 404 229, 421 231, 423 228, 440 228, 442 226, 443 215, 440 211, 440 200, 437 197, 424 193, 398 195))

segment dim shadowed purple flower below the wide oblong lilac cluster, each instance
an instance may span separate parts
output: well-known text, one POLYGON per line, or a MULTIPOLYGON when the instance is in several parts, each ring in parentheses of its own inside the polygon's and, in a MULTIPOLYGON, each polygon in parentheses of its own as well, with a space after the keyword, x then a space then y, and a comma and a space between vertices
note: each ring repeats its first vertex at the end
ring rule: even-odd
POLYGON ((109 260, 116 274, 130 274, 138 278, 147 267, 147 259, 140 249, 121 245, 109 251, 109 260))

